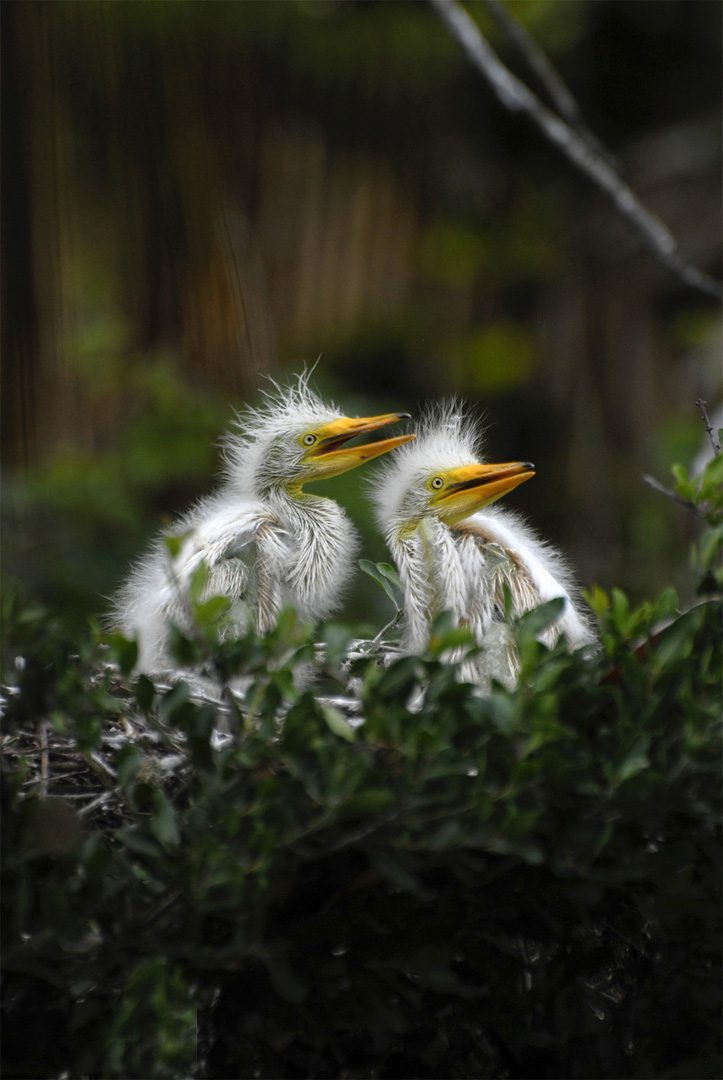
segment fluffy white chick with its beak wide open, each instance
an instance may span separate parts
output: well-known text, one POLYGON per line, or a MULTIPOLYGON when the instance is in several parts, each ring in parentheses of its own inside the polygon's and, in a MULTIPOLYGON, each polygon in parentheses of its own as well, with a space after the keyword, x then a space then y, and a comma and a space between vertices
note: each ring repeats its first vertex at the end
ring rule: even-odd
POLYGON ((362 445, 357 435, 411 419, 407 413, 348 417, 309 387, 270 380, 258 406, 237 414, 223 442, 218 490, 156 538, 119 590, 111 626, 138 646, 136 670, 170 670, 171 624, 189 629, 188 590, 203 564, 200 599, 226 597, 226 633, 259 634, 292 607, 303 620, 327 617, 351 576, 357 532, 332 499, 306 485, 342 473, 414 440, 413 433, 362 445), (168 538, 178 549, 172 557, 168 538))

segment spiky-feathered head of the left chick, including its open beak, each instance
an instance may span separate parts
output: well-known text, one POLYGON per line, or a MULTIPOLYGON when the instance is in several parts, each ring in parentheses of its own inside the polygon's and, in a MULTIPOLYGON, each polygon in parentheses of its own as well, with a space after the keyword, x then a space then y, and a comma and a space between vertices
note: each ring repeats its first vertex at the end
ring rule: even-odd
POLYGON ((239 430, 225 444, 228 480, 244 495, 298 494, 305 484, 340 476, 416 437, 405 434, 348 445, 358 435, 410 419, 409 414, 344 416, 309 389, 307 375, 289 388, 273 383, 264 397, 263 406, 238 417, 239 430))

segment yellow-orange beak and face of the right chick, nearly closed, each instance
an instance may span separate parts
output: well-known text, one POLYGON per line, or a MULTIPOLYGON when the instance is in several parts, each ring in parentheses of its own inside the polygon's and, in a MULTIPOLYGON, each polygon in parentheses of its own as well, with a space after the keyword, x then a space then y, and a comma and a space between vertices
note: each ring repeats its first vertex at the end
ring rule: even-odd
POLYGON ((535 475, 528 461, 460 465, 432 477, 430 507, 448 524, 464 521, 535 475), (439 484, 439 481, 442 484, 439 484))

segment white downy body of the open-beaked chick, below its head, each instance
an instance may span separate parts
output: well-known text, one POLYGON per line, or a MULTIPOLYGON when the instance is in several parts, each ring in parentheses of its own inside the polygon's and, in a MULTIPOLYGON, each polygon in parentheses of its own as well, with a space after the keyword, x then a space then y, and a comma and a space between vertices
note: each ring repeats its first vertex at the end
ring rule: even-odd
POLYGON ((178 555, 172 559, 158 539, 118 597, 120 629, 137 637, 143 671, 164 665, 170 623, 188 629, 188 588, 202 563, 207 581, 200 598, 227 597, 229 625, 266 633, 283 607, 309 620, 330 615, 357 550, 342 508, 312 495, 233 505, 223 494, 211 496, 166 535, 174 534, 184 538, 178 555))

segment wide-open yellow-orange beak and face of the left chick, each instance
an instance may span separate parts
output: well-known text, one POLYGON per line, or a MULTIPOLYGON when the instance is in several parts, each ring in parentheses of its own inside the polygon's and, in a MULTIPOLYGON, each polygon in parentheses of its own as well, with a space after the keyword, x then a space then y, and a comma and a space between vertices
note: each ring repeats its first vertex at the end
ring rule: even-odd
POLYGON ((398 420, 411 420, 409 413, 384 413, 381 416, 365 417, 339 417, 330 423, 322 424, 309 434, 314 435, 316 442, 309 447, 304 457, 307 465, 310 465, 305 481, 326 480, 332 476, 340 476, 349 469, 378 458, 381 454, 388 454, 394 447, 409 443, 416 435, 394 435, 393 438, 383 438, 376 443, 363 443, 361 446, 346 446, 350 438, 357 435, 364 435, 369 431, 376 431, 387 423, 396 423, 398 420))

